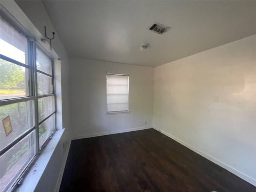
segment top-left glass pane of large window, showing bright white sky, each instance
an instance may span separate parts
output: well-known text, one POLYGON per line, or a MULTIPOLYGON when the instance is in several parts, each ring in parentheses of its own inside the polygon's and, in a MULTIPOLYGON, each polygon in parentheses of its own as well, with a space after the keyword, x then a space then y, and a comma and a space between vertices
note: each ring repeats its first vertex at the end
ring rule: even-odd
POLYGON ((26 64, 27 38, 3 18, 0 22, 0 54, 26 64))

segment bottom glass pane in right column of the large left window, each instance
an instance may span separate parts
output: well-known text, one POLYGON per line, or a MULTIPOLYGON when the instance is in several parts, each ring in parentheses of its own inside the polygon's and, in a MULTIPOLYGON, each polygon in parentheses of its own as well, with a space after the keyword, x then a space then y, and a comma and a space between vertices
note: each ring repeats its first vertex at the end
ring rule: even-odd
POLYGON ((48 137, 52 134, 55 129, 55 114, 50 116, 45 122, 39 125, 39 143, 40 147, 46 142, 48 137))

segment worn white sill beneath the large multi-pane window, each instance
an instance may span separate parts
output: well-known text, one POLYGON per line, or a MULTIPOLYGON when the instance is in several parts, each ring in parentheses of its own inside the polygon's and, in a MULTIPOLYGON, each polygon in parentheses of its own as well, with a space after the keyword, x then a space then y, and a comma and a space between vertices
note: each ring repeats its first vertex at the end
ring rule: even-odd
POLYGON ((46 169, 46 166, 50 161, 63 132, 64 129, 56 130, 52 139, 48 142, 42 153, 31 165, 28 173, 24 176, 22 184, 16 188, 16 192, 28 192, 36 189, 36 186, 40 182, 40 178, 44 173, 44 170, 46 169))

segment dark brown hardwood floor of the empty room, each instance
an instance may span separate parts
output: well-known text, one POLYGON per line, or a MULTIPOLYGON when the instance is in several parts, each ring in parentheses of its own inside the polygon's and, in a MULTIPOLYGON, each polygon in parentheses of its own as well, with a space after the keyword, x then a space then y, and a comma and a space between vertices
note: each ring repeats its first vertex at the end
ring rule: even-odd
POLYGON ((256 192, 164 134, 140 130, 73 140, 60 192, 256 192))

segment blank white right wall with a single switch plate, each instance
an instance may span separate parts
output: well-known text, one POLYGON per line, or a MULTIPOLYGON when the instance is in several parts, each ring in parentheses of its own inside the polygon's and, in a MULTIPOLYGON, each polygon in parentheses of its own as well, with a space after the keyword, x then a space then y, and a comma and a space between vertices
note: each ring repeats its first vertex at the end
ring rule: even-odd
POLYGON ((156 67, 154 112, 164 134, 256 185, 256 36, 156 67))

